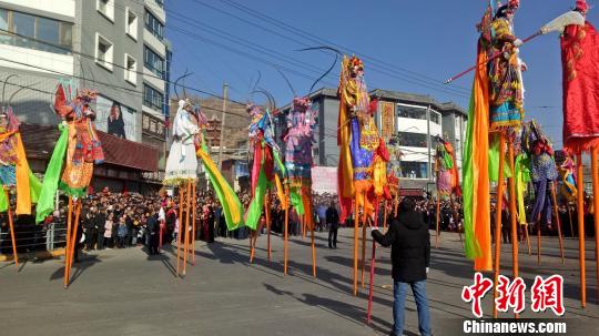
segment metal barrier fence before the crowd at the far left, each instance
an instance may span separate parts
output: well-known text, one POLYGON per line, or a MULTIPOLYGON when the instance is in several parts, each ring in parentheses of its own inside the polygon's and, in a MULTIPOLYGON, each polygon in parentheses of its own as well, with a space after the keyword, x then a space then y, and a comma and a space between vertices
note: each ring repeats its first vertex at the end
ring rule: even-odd
MULTIPOLYGON (((67 223, 57 222, 44 225, 14 224, 14 241, 18 253, 52 251, 64 247, 67 223)), ((12 254, 12 237, 8 225, 0 227, 0 254, 12 254)))

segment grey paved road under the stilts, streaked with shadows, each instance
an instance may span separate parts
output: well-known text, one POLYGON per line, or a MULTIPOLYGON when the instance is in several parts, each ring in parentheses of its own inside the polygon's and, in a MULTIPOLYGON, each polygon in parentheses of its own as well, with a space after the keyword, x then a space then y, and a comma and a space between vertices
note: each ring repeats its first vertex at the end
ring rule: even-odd
MULTIPOLYGON (((387 335, 393 324, 389 250, 377 250, 373 324, 367 326, 367 284, 358 297, 352 295, 352 233, 339 232, 337 250, 327 248, 325 233, 316 235, 317 278, 312 277, 309 240, 301 237, 293 237, 290 244, 290 274, 283 275, 278 236, 272 240, 272 263, 266 259, 266 236, 258 238, 254 264, 248 263, 247 241, 197 242, 196 265, 187 266, 184 279, 174 277, 176 258, 171 252, 150 257, 139 247, 87 254, 74 266, 68 291, 62 289, 59 259, 29 262, 19 273, 12 264, 0 264, 0 334, 387 335)), ((520 254, 520 274, 528 287, 537 274, 564 275, 569 327, 585 326, 586 335, 597 334, 591 330, 599 328, 595 243, 587 243, 586 309, 579 304, 577 241, 566 240, 565 265, 556 240, 544 238, 542 244, 540 266, 535 254, 520 254)), ((370 248, 368 244, 367 255, 370 248)), ((502 273, 510 275, 511 250, 501 257, 501 265, 506 265, 502 273)), ((471 278, 471 265, 464 257, 458 236, 443 234, 439 248, 433 248, 427 285, 435 335, 459 335, 460 319, 471 318, 470 306, 460 299, 463 286, 470 285, 471 278)), ((490 308, 487 295, 487 318, 490 308)), ((551 315, 535 315, 527 309, 522 316, 551 315)), ((412 295, 406 323, 406 335, 417 335, 412 295)))

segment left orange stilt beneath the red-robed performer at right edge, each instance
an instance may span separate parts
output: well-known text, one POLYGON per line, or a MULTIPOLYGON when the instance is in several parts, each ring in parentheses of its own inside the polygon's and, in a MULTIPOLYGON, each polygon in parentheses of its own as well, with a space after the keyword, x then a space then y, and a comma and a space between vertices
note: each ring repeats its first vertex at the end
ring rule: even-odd
POLYGON ((587 306, 587 271, 585 266, 585 187, 582 177, 582 154, 576 155, 576 189, 578 197, 578 261, 580 263, 580 305, 587 306))

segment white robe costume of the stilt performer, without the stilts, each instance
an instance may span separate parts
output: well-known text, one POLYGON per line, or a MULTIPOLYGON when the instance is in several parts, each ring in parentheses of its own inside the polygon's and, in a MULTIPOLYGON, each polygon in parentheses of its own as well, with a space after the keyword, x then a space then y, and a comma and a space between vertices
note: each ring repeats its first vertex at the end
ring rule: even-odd
POLYGON ((164 172, 164 185, 179 185, 184 181, 197 179, 194 139, 200 128, 194 122, 190 110, 190 101, 179 101, 179 109, 173 121, 173 143, 164 172))

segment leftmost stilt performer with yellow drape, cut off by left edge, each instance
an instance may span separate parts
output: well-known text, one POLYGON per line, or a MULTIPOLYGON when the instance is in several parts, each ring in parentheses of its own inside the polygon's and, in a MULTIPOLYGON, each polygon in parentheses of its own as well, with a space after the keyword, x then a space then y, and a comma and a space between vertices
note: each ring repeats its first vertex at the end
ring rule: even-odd
POLYGON ((2 190, 0 191, 0 213, 6 212, 8 215, 12 256, 17 269, 19 269, 19 255, 17 254, 10 192, 13 191, 17 195, 14 214, 29 215, 31 214, 31 205, 38 203, 41 183, 29 169, 23 142, 21 141, 21 133, 19 132, 19 121, 10 105, 14 95, 28 86, 16 90, 9 100, 6 101, 6 86, 11 77, 17 75, 9 75, 4 80, 2 85, 2 102, 0 105, 0 184, 2 185, 2 190))

